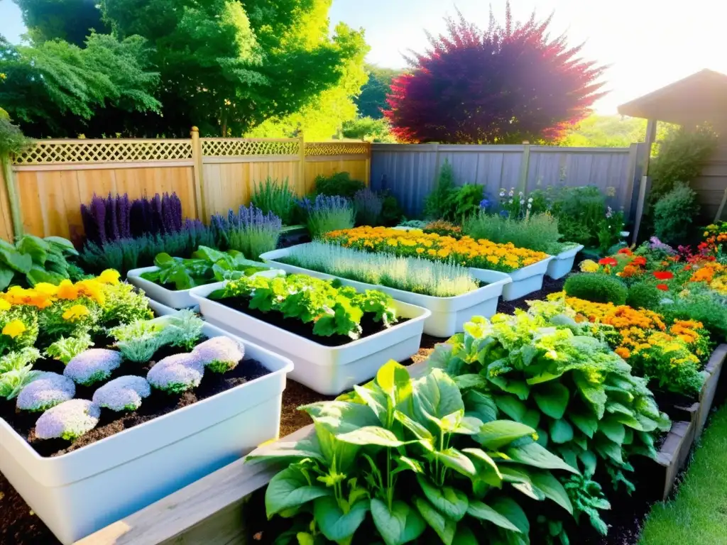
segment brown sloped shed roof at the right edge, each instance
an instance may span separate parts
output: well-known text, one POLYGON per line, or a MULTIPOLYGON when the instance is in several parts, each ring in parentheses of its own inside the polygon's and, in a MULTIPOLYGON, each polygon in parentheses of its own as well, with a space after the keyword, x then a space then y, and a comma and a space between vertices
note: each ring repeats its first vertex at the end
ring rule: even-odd
POLYGON ((727 129, 727 76, 701 70, 619 106, 619 113, 686 126, 727 129))

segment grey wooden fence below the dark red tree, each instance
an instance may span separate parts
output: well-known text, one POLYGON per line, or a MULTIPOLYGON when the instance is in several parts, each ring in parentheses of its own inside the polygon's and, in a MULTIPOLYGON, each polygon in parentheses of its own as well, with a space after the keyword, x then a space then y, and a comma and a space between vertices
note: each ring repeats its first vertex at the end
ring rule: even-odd
POLYGON ((612 206, 629 214, 638 145, 630 148, 560 148, 534 145, 374 144, 371 187, 388 189, 406 214, 418 215, 444 161, 457 185, 482 185, 491 198, 501 187, 525 193, 548 185, 596 185, 612 206))

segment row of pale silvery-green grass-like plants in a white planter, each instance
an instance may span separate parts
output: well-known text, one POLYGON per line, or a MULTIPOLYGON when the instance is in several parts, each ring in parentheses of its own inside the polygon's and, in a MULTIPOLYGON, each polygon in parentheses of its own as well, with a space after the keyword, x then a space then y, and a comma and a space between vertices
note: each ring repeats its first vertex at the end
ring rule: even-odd
POLYGON ((428 259, 370 254, 333 244, 295 246, 286 263, 358 282, 435 297, 454 297, 478 288, 469 270, 428 259))

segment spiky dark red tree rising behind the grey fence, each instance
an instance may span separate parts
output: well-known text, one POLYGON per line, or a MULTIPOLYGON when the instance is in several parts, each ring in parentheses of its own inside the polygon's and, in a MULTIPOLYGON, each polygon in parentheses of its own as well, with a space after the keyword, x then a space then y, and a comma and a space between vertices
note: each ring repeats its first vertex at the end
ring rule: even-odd
MULTIPOLYGON (((552 16, 551 16, 552 17, 552 16)), ((461 13, 448 32, 427 35, 430 49, 408 58, 392 82, 384 115, 405 142, 512 143, 555 141, 585 118, 602 96, 603 68, 578 57, 566 36, 551 39, 551 17, 505 26, 490 12, 481 30, 461 13)))

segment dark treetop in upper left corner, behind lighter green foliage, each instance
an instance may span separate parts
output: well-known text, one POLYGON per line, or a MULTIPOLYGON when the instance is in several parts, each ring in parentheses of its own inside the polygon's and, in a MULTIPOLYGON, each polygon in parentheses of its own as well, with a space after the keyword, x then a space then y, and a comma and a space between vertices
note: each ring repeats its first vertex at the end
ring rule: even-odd
POLYGON ((108 33, 96 0, 13 0, 36 43, 61 39, 84 47, 91 31, 108 33))

